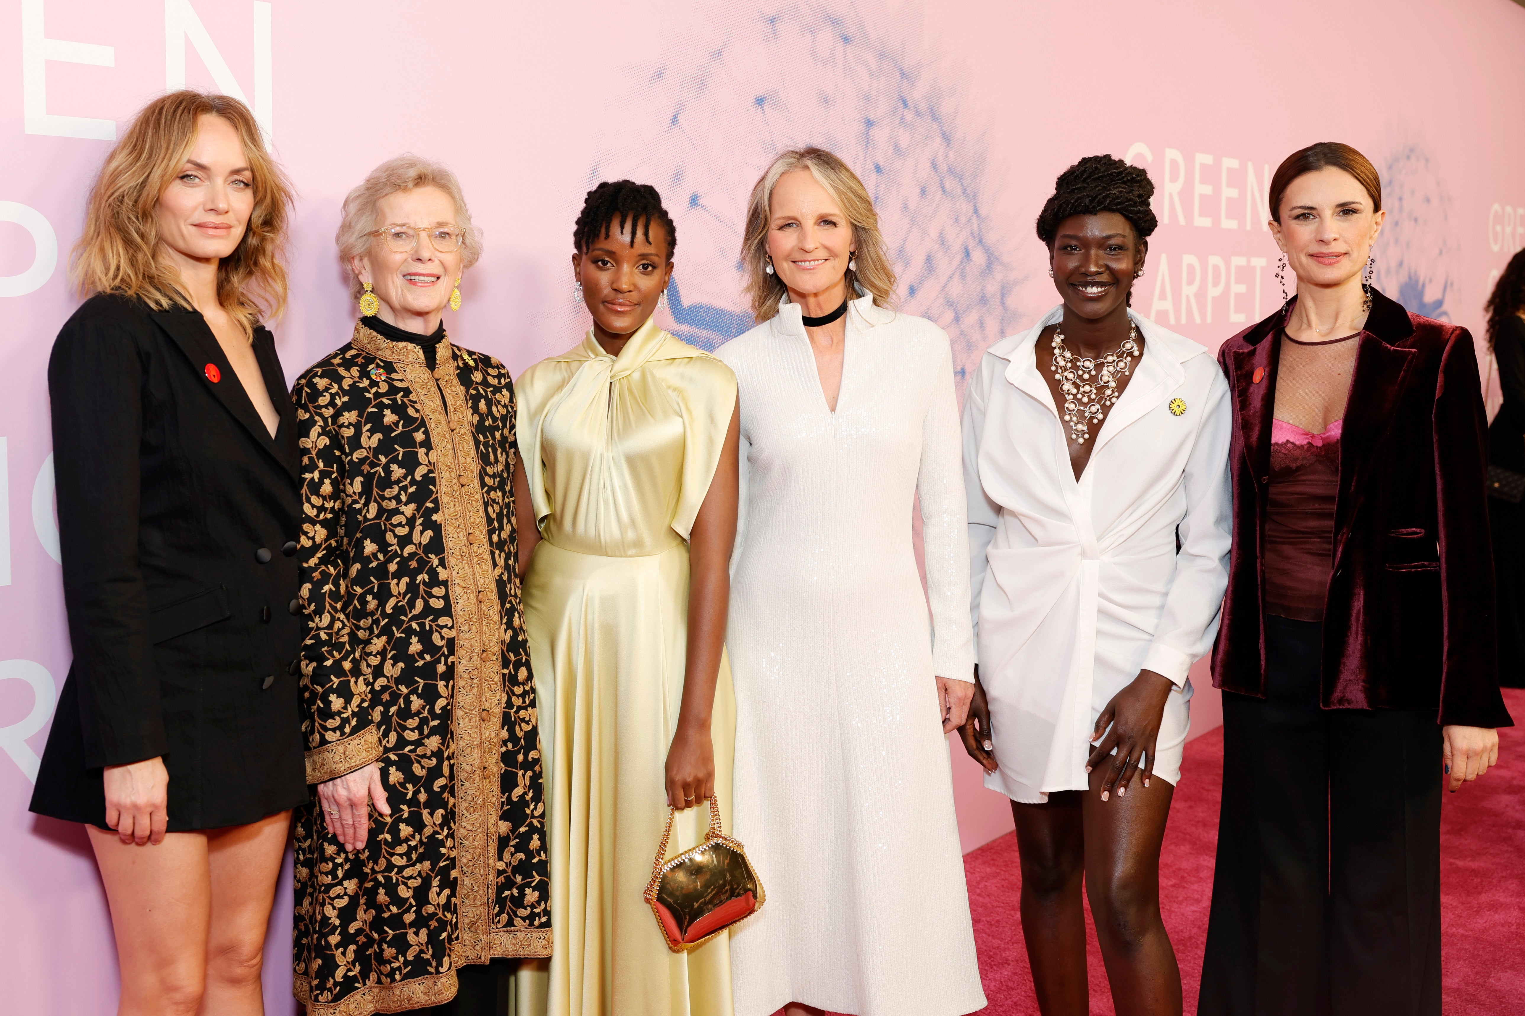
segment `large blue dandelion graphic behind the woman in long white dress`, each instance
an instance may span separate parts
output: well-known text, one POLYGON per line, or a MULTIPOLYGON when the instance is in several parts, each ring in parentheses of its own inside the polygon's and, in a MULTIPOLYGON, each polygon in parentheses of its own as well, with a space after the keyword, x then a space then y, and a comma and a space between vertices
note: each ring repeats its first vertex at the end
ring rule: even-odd
POLYGON ((645 87, 627 108, 651 122, 639 140, 621 131, 619 154, 589 174, 590 186, 631 177, 662 192, 679 233, 674 334, 714 349, 752 327, 738 259, 747 195, 778 152, 820 145, 868 186, 901 309, 947 329, 962 387, 1016 327, 1020 279, 993 242, 984 151, 958 123, 956 90, 857 12, 805 3, 734 17, 668 47, 683 62, 637 72, 645 87))

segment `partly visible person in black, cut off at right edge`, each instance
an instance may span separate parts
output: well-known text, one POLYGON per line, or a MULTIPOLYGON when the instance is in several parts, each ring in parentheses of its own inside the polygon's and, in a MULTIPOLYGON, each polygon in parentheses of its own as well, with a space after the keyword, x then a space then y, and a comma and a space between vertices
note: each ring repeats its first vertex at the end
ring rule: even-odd
POLYGON ((1525 250, 1488 297, 1488 349, 1504 402, 1488 427, 1488 529, 1499 591, 1499 684, 1525 687, 1525 250))

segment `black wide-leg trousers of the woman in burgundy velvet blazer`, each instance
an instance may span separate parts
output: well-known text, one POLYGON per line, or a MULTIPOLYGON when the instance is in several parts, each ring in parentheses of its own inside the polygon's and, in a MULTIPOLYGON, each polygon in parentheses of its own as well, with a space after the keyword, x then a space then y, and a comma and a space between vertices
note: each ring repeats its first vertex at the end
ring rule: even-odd
POLYGON ((1440 725, 1321 708, 1319 629, 1267 617, 1266 698, 1223 695, 1199 1016, 1440 1016, 1440 725))

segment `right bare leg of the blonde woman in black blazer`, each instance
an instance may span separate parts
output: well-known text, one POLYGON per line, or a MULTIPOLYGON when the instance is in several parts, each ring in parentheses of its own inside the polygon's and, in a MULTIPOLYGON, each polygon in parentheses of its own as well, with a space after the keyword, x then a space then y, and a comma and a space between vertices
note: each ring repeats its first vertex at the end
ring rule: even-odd
POLYGON ((262 1016, 259 969, 291 812, 207 833, 212 919, 203 1016, 262 1016))

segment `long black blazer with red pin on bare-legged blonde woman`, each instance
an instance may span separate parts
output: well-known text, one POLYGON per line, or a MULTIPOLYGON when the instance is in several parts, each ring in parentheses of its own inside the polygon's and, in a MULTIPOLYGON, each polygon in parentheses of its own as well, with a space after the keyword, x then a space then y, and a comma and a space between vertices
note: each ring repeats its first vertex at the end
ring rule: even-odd
POLYGON ((64 603, 75 660, 32 810, 104 826, 101 768, 163 756, 169 829, 256 821, 307 800, 291 673, 296 416, 270 437, 206 320, 96 296, 47 366, 64 603))

